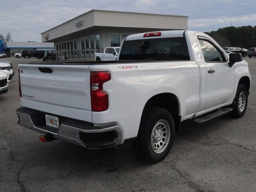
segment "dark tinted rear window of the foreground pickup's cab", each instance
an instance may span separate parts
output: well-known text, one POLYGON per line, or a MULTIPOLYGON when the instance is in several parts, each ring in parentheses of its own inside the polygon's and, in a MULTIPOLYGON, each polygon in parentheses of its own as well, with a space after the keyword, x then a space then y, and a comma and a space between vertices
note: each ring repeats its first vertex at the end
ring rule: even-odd
POLYGON ((119 60, 190 60, 186 38, 126 40, 119 60))

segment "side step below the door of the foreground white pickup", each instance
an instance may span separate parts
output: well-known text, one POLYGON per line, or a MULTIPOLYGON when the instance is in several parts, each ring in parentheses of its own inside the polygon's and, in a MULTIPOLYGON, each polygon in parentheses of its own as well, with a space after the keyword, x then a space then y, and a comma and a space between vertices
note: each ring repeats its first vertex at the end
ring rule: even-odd
POLYGON ((203 123, 203 122, 206 122, 206 121, 209 121, 209 120, 212 120, 212 119, 215 119, 217 117, 220 117, 222 115, 225 115, 225 114, 228 114, 230 112, 232 112, 232 108, 230 107, 225 107, 225 108, 220 108, 219 110, 217 111, 214 111, 212 113, 208 113, 206 115, 203 115, 203 116, 200 116, 198 118, 196 118, 194 120, 195 123, 203 123))

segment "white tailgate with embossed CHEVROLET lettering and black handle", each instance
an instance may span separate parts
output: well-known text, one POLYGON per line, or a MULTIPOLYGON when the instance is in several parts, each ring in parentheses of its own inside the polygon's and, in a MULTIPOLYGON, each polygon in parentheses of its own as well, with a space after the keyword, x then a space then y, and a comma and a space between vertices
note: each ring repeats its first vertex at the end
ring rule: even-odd
POLYGON ((89 65, 19 64, 19 69, 22 106, 92 122, 89 65))

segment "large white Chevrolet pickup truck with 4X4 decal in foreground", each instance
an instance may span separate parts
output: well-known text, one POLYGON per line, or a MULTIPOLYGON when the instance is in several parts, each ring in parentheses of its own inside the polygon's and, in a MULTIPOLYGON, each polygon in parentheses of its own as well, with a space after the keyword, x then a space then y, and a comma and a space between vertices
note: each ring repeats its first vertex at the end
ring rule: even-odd
POLYGON ((136 138, 145 160, 170 151, 174 132, 244 115, 251 86, 248 63, 208 35, 162 31, 128 36, 117 61, 18 65, 18 124, 42 142, 65 140, 104 148, 136 138))

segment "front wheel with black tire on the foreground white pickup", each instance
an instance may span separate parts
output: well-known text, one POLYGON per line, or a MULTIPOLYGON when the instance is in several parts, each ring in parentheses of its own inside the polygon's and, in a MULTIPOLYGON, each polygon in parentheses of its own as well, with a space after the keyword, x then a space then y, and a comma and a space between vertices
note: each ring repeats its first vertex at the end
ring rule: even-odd
POLYGON ((236 97, 235 97, 235 103, 233 107, 233 111, 231 115, 234 118, 242 117, 246 111, 248 103, 248 92, 246 87, 243 84, 238 84, 237 91, 236 91, 236 97), (243 94, 243 100, 240 100, 240 94, 243 94), (239 102, 240 100, 240 102, 239 102), (241 108, 242 106, 242 108, 241 108))

